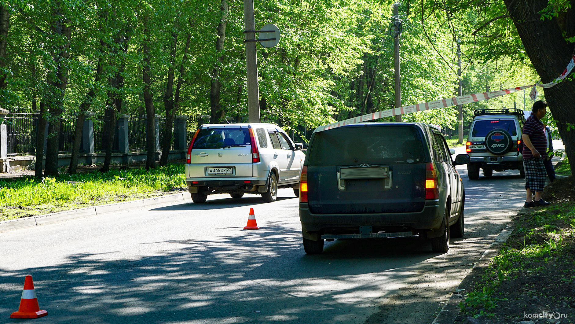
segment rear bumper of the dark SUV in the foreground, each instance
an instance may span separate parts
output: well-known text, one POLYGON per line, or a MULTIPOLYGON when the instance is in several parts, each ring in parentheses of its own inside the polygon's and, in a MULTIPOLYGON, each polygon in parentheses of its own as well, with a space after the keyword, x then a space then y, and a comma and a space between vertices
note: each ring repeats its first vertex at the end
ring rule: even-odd
POLYGON ((304 232, 323 232, 326 228, 349 228, 366 225, 372 227, 406 227, 413 230, 437 230, 442 226, 444 208, 439 204, 439 200, 428 200, 425 201, 425 206, 420 212, 312 214, 308 204, 300 203, 300 221, 304 232))

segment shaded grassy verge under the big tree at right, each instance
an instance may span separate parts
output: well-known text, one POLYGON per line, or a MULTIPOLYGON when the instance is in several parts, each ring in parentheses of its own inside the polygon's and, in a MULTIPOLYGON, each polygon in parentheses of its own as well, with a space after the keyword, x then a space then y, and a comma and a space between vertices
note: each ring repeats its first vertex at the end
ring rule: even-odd
POLYGON ((455 323, 467 317, 490 324, 575 322, 575 186, 573 177, 561 182, 555 186, 563 195, 555 192, 553 204, 515 216, 499 255, 465 287, 455 323))

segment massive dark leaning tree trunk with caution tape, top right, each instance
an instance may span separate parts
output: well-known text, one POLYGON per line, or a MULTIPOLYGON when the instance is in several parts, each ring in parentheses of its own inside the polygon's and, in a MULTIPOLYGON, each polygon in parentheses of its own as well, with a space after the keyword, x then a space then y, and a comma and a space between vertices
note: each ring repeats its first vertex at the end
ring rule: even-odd
MULTIPOLYGON (((565 25, 562 31, 557 18, 541 20, 539 12, 547 6, 546 0, 534 0, 529 3, 519 0, 504 0, 504 2, 541 81, 549 83, 559 77, 575 49, 575 43, 567 43, 563 37, 575 36, 575 28, 572 25, 565 25)), ((560 17, 562 21, 575 21, 575 9, 567 10, 560 17)), ((569 125, 575 125, 575 110, 573 110, 575 83, 565 81, 545 89, 545 99, 551 114, 558 121, 557 128, 565 144, 571 173, 575 176, 575 131, 569 130, 569 125)))

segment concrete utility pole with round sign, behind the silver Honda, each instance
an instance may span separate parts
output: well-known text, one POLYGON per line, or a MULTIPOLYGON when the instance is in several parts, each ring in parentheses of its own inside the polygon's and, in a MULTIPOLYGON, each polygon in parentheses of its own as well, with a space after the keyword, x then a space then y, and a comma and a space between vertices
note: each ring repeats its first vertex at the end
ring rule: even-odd
POLYGON ((244 0, 244 26, 246 27, 246 71, 248 92, 248 121, 259 123, 258 58, 255 51, 254 0, 244 0), (251 31, 251 32, 250 32, 251 31))

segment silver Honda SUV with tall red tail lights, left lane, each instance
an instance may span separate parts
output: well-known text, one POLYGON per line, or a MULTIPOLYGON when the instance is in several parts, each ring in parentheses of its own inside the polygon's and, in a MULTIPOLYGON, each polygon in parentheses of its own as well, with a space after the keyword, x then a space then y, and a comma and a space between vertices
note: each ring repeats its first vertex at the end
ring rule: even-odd
POLYGON ((204 124, 186 155, 191 199, 204 203, 215 193, 253 193, 270 203, 278 188, 293 188, 299 196, 302 148, 274 124, 204 124))

